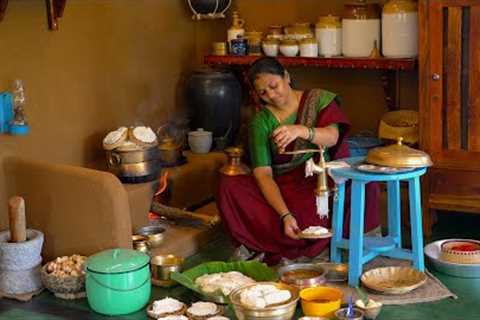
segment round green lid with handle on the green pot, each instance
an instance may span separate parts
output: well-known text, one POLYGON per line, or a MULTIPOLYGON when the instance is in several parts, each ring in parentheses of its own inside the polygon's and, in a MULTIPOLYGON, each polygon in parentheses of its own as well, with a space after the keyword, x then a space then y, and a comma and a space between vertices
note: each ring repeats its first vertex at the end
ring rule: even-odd
POLYGON ((123 273, 137 270, 150 261, 145 253, 131 249, 101 251, 87 259, 87 270, 99 273, 123 273))

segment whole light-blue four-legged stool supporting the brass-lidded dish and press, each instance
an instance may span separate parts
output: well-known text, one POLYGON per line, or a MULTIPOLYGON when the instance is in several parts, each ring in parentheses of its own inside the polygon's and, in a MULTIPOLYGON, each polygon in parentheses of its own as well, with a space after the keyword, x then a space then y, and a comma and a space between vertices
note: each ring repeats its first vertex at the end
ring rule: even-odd
MULTIPOLYGON (((350 164, 363 161, 362 157, 343 159, 350 164)), ((343 238, 343 216, 345 200, 345 183, 338 184, 338 195, 333 205, 330 259, 341 262, 341 250, 348 249, 348 285, 358 286, 362 268, 365 263, 376 256, 388 256, 411 260, 413 266, 425 270, 423 260, 422 207, 420 197, 420 176, 426 168, 397 174, 366 173, 354 168, 332 169, 339 178, 352 180, 350 204, 350 238, 343 238), (408 182, 410 204, 410 224, 412 250, 402 248, 400 181, 408 182), (388 235, 385 237, 364 237, 365 184, 369 182, 386 182, 388 192, 388 235)))

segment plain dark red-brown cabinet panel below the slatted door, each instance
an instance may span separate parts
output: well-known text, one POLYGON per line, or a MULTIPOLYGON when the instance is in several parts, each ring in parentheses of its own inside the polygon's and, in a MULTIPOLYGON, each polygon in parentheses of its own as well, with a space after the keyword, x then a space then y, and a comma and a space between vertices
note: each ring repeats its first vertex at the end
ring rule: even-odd
POLYGON ((480 172, 472 170, 429 170, 431 194, 480 199, 480 172))

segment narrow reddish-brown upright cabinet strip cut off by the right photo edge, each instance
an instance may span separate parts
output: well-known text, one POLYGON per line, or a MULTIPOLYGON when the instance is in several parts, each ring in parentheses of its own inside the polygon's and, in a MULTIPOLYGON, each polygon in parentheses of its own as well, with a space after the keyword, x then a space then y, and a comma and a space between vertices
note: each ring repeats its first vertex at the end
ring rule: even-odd
POLYGON ((470 42, 468 149, 480 151, 480 5, 470 8, 468 38, 470 42))

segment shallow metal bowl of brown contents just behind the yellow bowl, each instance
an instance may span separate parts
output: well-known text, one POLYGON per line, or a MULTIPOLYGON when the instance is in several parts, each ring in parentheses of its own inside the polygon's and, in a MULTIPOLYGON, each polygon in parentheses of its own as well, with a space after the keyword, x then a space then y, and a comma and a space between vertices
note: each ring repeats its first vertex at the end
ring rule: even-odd
POLYGON ((326 281, 326 270, 311 263, 289 264, 279 268, 277 272, 282 282, 295 286, 299 289, 316 287, 318 285, 324 284, 326 281), (301 274, 298 274, 297 276, 295 276, 295 272, 300 273, 302 271, 310 271, 315 273, 315 275, 308 277, 308 275, 301 276, 301 274))

